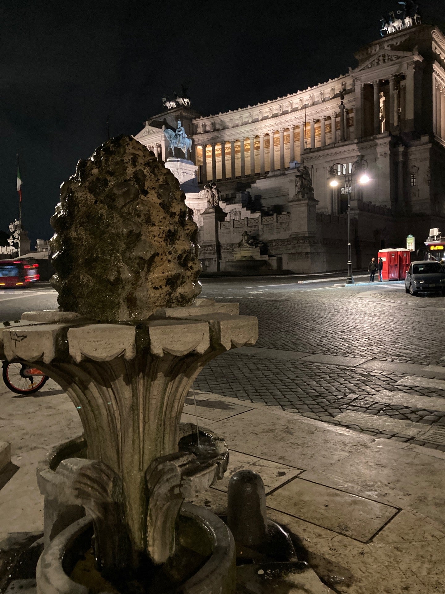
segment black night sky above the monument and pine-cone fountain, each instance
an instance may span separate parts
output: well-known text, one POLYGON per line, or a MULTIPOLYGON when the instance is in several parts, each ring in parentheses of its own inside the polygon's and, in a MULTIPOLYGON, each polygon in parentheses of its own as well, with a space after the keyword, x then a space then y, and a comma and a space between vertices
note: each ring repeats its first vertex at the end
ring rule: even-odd
MULTIPOLYGON (((49 239, 59 187, 110 133, 136 134, 189 84, 203 115, 275 99, 355 67, 397 0, 0 1, 0 229, 49 239)), ((421 1, 445 30, 444 0, 421 1)))

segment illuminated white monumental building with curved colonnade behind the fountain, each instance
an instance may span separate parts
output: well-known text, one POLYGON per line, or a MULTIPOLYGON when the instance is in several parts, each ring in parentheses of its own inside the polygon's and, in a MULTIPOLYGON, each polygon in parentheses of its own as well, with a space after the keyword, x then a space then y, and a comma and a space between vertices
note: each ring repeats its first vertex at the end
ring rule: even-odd
MULTIPOLYGON (((173 108, 135 136, 165 160, 161 127, 181 119, 193 138, 200 184, 187 203, 201 225, 206 204, 199 189, 215 181, 221 191, 222 263, 247 229, 285 269, 344 268, 348 195, 354 266, 367 266, 380 248, 405 245, 409 233, 419 247, 428 229, 445 229, 443 33, 434 25, 411 26, 360 48, 355 58, 348 74, 316 87, 212 116, 173 108), (330 187, 333 163, 349 170, 360 157, 370 182, 330 187), (301 161, 317 203, 297 208, 294 168, 301 161)), ((202 228, 200 244, 204 266, 214 269, 216 248, 202 228)))

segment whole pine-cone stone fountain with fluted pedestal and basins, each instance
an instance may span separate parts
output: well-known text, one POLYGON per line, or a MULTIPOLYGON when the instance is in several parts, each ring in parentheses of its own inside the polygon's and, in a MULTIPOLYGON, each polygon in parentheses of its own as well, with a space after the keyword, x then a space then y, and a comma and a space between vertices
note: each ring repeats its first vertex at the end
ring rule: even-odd
POLYGON ((0 334, 5 358, 53 378, 84 428, 37 473, 39 594, 234 592, 230 530, 183 504, 222 478, 227 446, 180 417, 204 365, 253 345, 258 324, 237 304, 198 299, 197 228, 184 198, 131 137, 81 160, 52 218, 59 311, 27 312, 0 334), (88 555, 94 567, 82 573, 88 555))

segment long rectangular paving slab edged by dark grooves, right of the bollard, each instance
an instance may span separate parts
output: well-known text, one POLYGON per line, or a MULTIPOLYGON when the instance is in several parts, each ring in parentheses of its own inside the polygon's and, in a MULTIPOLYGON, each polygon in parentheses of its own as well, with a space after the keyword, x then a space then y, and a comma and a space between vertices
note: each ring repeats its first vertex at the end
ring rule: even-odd
POLYGON ((268 507, 350 536, 369 541, 398 508, 345 491, 296 478, 269 495, 268 507))

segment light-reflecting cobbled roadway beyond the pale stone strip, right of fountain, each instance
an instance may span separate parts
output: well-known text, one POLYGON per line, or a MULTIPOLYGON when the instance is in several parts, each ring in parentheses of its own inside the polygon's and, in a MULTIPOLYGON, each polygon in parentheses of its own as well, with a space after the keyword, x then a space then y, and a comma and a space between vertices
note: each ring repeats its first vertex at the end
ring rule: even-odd
POLYGON ((445 355, 445 298, 397 290, 313 289, 234 296, 256 315, 256 346, 308 353, 439 364, 445 355))

